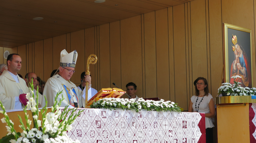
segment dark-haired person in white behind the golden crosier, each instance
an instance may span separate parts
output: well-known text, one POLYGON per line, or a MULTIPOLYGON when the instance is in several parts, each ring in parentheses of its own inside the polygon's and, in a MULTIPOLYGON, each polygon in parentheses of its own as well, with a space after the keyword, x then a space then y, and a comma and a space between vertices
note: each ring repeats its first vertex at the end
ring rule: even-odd
MULTIPOLYGON (((91 75, 85 75, 85 72, 81 73, 81 84, 79 86, 77 86, 78 89, 85 89, 86 86, 86 82, 89 82, 88 84, 88 97, 87 97, 87 101, 89 101, 91 99, 91 97, 93 97, 98 91, 94 88, 91 87, 91 75), (90 77, 89 77, 90 76, 90 77)), ((83 92, 83 98, 85 99, 85 92, 83 92)))

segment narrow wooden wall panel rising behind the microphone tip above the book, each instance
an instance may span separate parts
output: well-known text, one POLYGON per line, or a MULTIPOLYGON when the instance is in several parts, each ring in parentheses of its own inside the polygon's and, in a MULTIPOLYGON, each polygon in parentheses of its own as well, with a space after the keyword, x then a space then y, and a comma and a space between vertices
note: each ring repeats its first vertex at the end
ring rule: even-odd
POLYGON ((110 23, 110 77, 111 88, 121 86, 120 21, 110 23))

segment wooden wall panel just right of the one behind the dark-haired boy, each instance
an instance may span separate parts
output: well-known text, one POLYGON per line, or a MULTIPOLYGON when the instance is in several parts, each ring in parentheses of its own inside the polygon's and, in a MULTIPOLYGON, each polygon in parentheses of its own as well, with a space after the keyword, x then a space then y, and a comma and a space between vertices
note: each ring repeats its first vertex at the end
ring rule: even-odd
POLYGON ((144 14, 145 94, 157 97, 157 64, 155 44, 155 12, 144 14))

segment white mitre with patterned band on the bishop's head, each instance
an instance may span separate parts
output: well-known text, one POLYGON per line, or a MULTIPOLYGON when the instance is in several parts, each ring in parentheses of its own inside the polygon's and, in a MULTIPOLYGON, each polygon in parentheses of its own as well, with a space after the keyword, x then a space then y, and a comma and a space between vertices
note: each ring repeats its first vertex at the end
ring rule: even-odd
POLYGON ((62 50, 61 51, 61 62, 60 62, 59 66, 75 68, 77 56, 78 56, 78 54, 77 54, 76 50, 71 53, 68 53, 65 49, 62 50))

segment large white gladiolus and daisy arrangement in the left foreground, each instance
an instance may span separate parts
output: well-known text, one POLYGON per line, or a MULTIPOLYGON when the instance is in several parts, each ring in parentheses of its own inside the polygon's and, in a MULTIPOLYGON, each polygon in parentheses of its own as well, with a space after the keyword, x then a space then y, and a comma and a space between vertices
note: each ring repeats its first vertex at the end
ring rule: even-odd
MULTIPOLYGON (((14 129, 14 123, 9 119, 5 107, 3 106, 2 102, 0 101, 0 106, 2 107, 3 111, 0 111, 5 117, 1 119, 3 123, 6 123, 8 134, 3 137, 0 142, 11 142, 11 143, 80 143, 79 140, 71 140, 66 131, 72 130, 71 124, 74 120, 81 115, 81 112, 84 110, 79 110, 78 113, 75 114, 77 109, 68 109, 66 106, 64 110, 61 112, 59 110, 59 106, 61 102, 64 100, 62 95, 62 100, 58 101, 57 97, 59 94, 62 93, 58 92, 55 97, 55 102, 52 107, 52 111, 46 113, 47 109, 46 106, 43 107, 42 110, 38 109, 38 88, 37 88, 37 97, 36 101, 34 100, 34 92, 32 89, 33 83, 31 83, 31 88, 29 88, 31 93, 33 93, 32 97, 28 93, 26 98, 28 100, 27 105, 23 109, 25 112, 25 119, 26 119, 26 127, 24 126, 21 117, 18 115, 20 119, 19 127, 23 130, 22 133, 17 133, 14 129), (32 117, 29 118, 29 114, 27 110, 31 110, 32 117), (42 114, 42 121, 38 119, 39 112, 42 114), (66 119, 67 114, 71 114, 68 119, 66 119), (32 120, 30 120, 32 119, 32 120), (33 122, 33 128, 30 129, 31 123, 33 122)), ((44 96, 44 98, 46 98, 44 96)), ((46 101, 47 105, 47 101, 46 101)))

